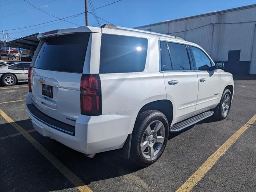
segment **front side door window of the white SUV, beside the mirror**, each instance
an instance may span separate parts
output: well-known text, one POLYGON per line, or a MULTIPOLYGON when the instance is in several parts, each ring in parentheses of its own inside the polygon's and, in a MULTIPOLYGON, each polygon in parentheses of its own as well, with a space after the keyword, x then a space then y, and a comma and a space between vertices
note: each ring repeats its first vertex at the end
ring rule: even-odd
POLYGON ((196 47, 191 46, 191 50, 195 58, 195 65, 197 70, 208 70, 209 67, 211 67, 211 61, 206 56, 206 54, 196 47))

